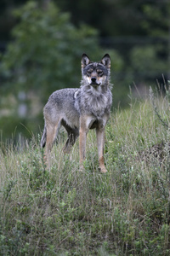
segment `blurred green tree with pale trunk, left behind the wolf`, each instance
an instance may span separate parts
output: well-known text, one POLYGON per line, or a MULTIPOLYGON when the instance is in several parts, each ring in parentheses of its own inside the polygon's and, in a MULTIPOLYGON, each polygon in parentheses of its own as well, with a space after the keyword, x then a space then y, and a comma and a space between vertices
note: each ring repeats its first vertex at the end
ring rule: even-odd
MULTIPOLYGON (((2 57, 0 89, 2 95, 8 94, 8 101, 12 98, 14 101, 8 118, 11 124, 21 122, 27 130, 35 132, 42 124, 42 106, 48 96, 54 90, 80 86, 82 53, 85 51, 92 59, 100 60, 104 50, 99 47, 94 28, 73 26, 70 15, 61 13, 54 3, 44 7, 28 2, 16 9, 14 15, 19 22, 12 31, 14 41, 8 44, 2 57), (24 113, 20 112, 23 109, 24 113)), ((114 50, 110 52, 114 66, 120 69, 121 59, 114 50)), ((8 132, 6 122, 1 120, 3 131, 8 132)))

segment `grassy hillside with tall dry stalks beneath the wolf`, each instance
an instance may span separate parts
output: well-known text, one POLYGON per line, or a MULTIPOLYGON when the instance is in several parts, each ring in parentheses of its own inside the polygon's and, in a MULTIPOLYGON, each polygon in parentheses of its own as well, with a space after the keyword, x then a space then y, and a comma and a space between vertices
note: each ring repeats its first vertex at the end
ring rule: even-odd
POLYGON ((106 129, 106 174, 88 133, 84 172, 78 142, 58 146, 45 169, 38 139, 0 153, 0 255, 169 255, 169 103, 133 103, 112 113, 106 129), (20 150, 19 150, 20 149, 20 150))

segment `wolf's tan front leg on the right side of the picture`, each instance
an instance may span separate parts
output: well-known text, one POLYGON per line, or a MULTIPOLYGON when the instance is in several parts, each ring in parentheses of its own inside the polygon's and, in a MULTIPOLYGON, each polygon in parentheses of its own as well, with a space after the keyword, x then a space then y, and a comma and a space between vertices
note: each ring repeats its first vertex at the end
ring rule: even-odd
POLYGON ((96 128, 96 136, 98 143, 99 169, 100 172, 107 172, 104 161, 104 143, 105 143, 105 128, 96 128))

